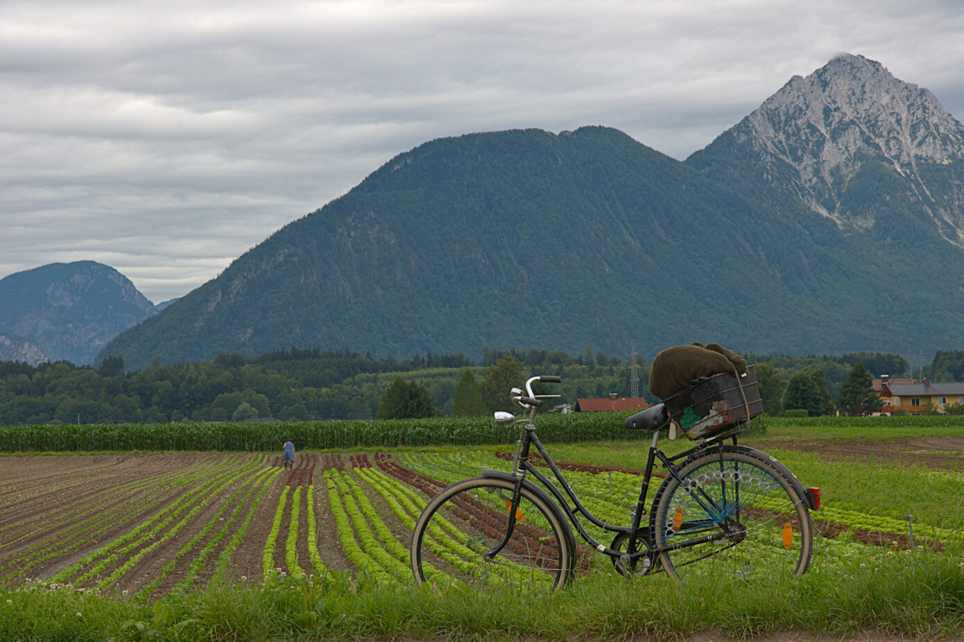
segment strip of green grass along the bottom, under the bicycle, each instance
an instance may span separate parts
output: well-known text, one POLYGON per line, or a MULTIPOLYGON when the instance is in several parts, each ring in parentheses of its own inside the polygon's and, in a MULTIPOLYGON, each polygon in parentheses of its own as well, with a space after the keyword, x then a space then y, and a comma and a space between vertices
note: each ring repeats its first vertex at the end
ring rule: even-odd
POLYGON ((843 636, 875 629, 943 638, 964 630, 960 551, 843 561, 782 581, 678 584, 665 576, 577 578, 550 595, 379 586, 335 575, 226 586, 180 600, 123 602, 38 584, 0 591, 5 640, 307 640, 447 637, 545 640, 701 631, 733 638, 790 629, 843 636))

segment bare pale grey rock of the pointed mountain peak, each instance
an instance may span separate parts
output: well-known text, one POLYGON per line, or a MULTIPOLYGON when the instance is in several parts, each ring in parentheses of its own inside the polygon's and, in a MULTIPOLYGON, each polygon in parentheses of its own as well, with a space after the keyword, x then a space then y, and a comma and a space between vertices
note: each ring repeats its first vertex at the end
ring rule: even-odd
POLYGON ((789 165, 785 187, 841 227, 873 225, 872 214, 854 215, 841 202, 850 178, 872 159, 907 180, 945 238, 964 240, 964 201, 935 196, 932 173, 921 171, 964 162, 964 125, 934 94, 876 61, 844 53, 793 76, 728 133, 774 174, 788 175, 789 165))

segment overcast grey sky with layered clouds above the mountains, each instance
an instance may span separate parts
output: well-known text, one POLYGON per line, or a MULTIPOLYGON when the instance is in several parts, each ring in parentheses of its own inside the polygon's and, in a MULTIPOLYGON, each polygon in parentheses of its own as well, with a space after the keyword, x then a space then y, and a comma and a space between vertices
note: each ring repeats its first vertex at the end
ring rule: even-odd
POLYGON ((683 160, 840 52, 964 117, 959 0, 0 0, 0 278, 93 259, 158 303, 426 141, 683 160))

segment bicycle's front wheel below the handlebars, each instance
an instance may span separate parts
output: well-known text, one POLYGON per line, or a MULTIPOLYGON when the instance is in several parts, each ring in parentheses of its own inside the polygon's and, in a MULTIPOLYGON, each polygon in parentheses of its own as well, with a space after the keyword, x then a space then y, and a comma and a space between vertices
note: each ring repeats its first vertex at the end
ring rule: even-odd
POLYGON ((448 487, 422 511, 412 534, 415 581, 440 586, 551 591, 569 578, 574 550, 559 509, 522 489, 512 536, 513 483, 478 477, 448 487))

